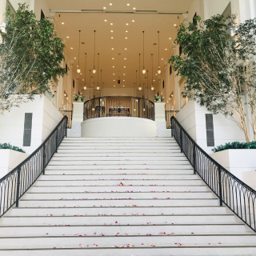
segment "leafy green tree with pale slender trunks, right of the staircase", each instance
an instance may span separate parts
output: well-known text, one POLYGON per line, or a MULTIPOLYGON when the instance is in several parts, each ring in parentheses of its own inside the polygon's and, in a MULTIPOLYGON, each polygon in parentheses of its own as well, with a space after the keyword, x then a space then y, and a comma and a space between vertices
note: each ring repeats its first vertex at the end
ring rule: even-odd
POLYGON ((205 22, 197 17, 197 24, 187 27, 182 24, 175 43, 183 54, 169 62, 186 79, 183 94, 214 114, 229 115, 248 142, 247 107, 256 139, 256 19, 239 26, 235 19, 216 15, 205 22))

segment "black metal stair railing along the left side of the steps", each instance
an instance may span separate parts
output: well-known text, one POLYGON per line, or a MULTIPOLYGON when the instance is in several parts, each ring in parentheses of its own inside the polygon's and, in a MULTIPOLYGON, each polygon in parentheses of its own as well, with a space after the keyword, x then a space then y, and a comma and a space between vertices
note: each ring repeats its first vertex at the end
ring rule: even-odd
POLYGON ((12 206, 18 207, 19 198, 45 173, 47 164, 66 136, 66 125, 65 116, 33 154, 0 179, 0 217, 12 206))

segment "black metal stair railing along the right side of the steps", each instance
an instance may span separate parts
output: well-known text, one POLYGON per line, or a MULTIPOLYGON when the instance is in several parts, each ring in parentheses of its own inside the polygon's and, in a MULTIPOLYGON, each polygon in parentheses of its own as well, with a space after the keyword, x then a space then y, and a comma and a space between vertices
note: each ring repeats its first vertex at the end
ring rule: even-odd
POLYGON ((256 191, 206 154, 174 117, 171 127, 172 136, 194 167, 194 174, 197 173, 218 196, 220 206, 225 204, 256 232, 256 191))

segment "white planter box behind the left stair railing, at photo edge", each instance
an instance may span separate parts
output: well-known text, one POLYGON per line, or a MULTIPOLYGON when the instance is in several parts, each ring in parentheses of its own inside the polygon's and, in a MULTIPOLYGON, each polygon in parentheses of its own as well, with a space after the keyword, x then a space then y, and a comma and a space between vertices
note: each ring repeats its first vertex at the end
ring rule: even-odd
POLYGON ((29 154, 14 150, 0 150, 0 178, 24 161, 29 154))

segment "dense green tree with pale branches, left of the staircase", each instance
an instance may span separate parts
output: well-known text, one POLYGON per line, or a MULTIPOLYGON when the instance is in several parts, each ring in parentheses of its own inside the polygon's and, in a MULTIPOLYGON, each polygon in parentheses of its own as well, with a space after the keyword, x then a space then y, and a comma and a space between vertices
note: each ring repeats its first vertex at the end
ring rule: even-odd
POLYGON ((64 44, 47 18, 36 20, 27 6, 14 16, 6 12, 6 32, 0 30, 0 114, 34 94, 49 91, 49 82, 64 76, 64 44), (26 94, 26 97, 24 97, 26 94), (15 96, 13 96, 15 95, 15 96))

